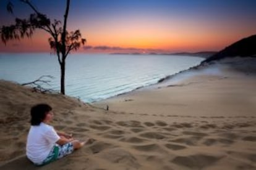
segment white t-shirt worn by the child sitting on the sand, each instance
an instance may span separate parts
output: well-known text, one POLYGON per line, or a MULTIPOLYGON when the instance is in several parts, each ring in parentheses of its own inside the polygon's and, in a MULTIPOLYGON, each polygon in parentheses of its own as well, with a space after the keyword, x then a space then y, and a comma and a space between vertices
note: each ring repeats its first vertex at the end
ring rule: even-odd
POLYGON ((47 158, 49 152, 60 139, 53 126, 40 123, 31 126, 28 132, 26 154, 33 163, 41 164, 47 158))

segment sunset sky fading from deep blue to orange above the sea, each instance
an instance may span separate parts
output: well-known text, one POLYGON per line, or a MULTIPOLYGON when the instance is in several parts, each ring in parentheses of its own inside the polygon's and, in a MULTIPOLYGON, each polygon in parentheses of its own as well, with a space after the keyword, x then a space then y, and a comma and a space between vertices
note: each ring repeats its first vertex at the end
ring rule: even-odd
MULTIPOLYGON (((0 26, 33 11, 20 2, 7 13, 0 1, 0 26)), ((63 20, 64 0, 31 0, 49 18, 63 20)), ((169 53, 220 51, 256 33, 255 0, 71 0, 67 30, 79 29, 87 44, 78 52, 169 53)), ((49 34, 0 42, 0 52, 50 52, 49 34)))

